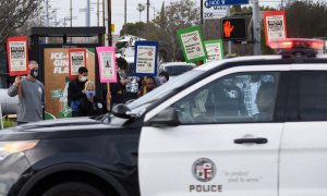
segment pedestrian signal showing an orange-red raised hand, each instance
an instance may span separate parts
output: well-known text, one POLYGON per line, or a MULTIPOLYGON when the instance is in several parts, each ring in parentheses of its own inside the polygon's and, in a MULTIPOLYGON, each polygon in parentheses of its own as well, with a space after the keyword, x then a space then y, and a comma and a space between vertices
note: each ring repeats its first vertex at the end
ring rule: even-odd
POLYGON ((247 39, 246 20, 244 17, 221 19, 223 40, 247 39))

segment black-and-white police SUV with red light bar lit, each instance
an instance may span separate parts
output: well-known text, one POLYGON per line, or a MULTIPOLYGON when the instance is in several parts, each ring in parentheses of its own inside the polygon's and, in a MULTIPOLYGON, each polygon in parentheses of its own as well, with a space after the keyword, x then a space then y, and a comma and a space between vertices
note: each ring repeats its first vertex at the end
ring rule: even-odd
POLYGON ((327 58, 305 49, 319 40, 287 41, 101 118, 2 131, 0 195, 327 195, 327 58))

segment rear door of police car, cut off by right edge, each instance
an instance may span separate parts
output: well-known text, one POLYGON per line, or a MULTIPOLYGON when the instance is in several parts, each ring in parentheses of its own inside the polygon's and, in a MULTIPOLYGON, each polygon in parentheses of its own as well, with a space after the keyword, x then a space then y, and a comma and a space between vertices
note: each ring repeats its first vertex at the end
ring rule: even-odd
POLYGON ((327 195, 327 70, 326 64, 307 66, 292 74, 280 152, 280 196, 327 195))

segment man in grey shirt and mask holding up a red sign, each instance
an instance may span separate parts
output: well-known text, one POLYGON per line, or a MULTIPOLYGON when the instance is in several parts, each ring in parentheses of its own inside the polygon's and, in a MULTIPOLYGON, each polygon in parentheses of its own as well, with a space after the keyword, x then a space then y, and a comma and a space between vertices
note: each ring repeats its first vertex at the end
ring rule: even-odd
POLYGON ((16 76, 14 84, 8 89, 10 97, 19 96, 17 124, 43 120, 45 106, 45 86, 37 79, 38 63, 28 62, 26 77, 16 76))

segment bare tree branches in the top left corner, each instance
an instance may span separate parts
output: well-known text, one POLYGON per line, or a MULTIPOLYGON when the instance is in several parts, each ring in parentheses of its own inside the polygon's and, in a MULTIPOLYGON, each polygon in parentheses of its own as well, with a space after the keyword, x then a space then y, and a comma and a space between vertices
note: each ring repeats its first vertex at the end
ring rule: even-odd
POLYGON ((9 36, 26 24, 31 15, 38 11, 41 0, 0 0, 0 50, 9 36))

